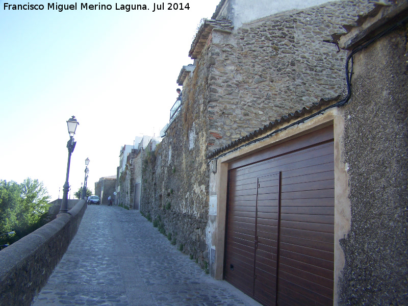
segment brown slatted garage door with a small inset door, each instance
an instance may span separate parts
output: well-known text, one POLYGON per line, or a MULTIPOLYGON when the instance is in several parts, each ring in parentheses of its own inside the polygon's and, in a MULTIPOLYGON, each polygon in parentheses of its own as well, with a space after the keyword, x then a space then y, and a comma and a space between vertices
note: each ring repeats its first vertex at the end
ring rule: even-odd
POLYGON ((327 127, 230 165, 224 277, 264 305, 333 305, 333 152, 327 127))

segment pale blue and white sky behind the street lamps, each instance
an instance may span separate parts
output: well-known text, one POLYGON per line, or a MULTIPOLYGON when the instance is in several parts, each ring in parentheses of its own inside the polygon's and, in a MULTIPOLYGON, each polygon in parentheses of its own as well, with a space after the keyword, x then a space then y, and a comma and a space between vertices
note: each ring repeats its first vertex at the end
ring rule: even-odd
POLYGON ((43 1, 30 1, 43 4, 42 11, 4 10, 4 3, 0 179, 38 179, 55 199, 65 182, 66 120, 74 115, 80 122, 69 183, 73 191, 81 187, 88 157, 93 190, 99 177, 116 174, 121 145, 133 145, 135 136, 159 136, 177 96, 180 69, 193 62, 188 51, 197 25, 211 18, 219 0, 156 12, 149 0, 100 2, 112 5, 110 11, 81 11, 78 2, 77 11, 63 12, 47 10, 43 1), (117 11, 115 3, 150 10, 117 11))

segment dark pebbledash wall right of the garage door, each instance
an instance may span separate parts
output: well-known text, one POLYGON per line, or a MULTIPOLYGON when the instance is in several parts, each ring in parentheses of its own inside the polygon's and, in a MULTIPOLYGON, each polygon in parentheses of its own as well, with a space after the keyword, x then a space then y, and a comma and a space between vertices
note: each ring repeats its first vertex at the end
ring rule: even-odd
POLYGON ((407 29, 354 56, 344 108, 351 231, 341 241, 341 305, 408 303, 407 29))

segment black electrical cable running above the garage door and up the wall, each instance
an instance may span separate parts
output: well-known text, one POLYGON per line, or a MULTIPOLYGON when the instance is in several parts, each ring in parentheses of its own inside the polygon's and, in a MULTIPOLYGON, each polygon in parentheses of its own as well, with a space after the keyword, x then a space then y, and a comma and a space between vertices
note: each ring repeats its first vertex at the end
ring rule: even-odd
POLYGON ((265 136, 263 136, 261 138, 253 139, 253 140, 251 140, 251 141, 249 141, 249 142, 247 142, 245 144, 242 144, 242 145, 240 145, 240 146, 238 146, 238 147, 236 147, 234 149, 226 151, 223 154, 217 156, 216 158, 211 159, 207 164, 210 164, 212 161, 217 160, 217 159, 219 159, 221 157, 224 157, 227 154, 235 152, 235 151, 239 150, 240 148, 243 148, 243 147, 246 147, 246 146, 251 145, 253 143, 257 143, 257 142, 260 142, 262 140, 265 140, 265 139, 271 137, 272 135, 274 135, 276 133, 285 131, 285 130, 289 129, 292 126, 298 125, 298 124, 303 123, 303 122, 305 122, 305 121, 307 121, 309 119, 312 119, 312 118, 314 118, 314 117, 316 117, 316 116, 318 116, 320 114, 323 114, 328 109, 331 109, 331 108, 334 108, 334 107, 341 107, 341 106, 345 105, 348 102, 348 100, 350 99, 350 97, 351 97, 351 78, 352 78, 352 74, 353 74, 353 64, 354 64, 353 55, 360 52, 361 50, 365 49, 370 44, 372 44, 374 41, 378 40, 380 37, 388 34, 391 31, 393 31, 394 29, 399 27, 402 23, 406 22, 407 20, 408 20, 408 16, 403 18, 399 22, 395 23, 394 25, 392 25, 388 29, 386 29, 386 30, 380 32, 379 34, 375 35, 373 38, 371 38, 370 40, 368 40, 364 44, 361 44, 361 45, 359 45, 359 46, 357 46, 357 47, 355 47, 355 48, 353 48, 351 50, 351 53, 347 56, 347 60, 346 60, 347 95, 342 100, 338 101, 337 103, 335 103, 333 105, 327 106, 324 109, 321 109, 320 111, 318 111, 318 112, 316 112, 316 113, 314 113, 314 114, 312 114, 310 116, 304 117, 304 118, 302 118, 300 120, 297 120, 297 121, 295 121, 295 122, 293 122, 293 123, 291 123, 289 125, 281 127, 281 129, 275 130, 272 133, 269 133, 269 134, 267 134, 267 135, 265 135, 265 136), (351 65, 350 65, 350 60, 351 60, 351 65))

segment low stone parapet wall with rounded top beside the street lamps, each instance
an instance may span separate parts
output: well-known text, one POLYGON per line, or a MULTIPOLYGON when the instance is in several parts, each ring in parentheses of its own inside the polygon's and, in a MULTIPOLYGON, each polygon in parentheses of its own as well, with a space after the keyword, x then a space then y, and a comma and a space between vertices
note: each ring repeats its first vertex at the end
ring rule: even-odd
POLYGON ((79 201, 0 251, 0 305, 31 305, 77 233, 86 207, 85 200, 79 201))

